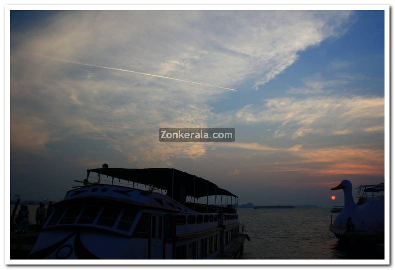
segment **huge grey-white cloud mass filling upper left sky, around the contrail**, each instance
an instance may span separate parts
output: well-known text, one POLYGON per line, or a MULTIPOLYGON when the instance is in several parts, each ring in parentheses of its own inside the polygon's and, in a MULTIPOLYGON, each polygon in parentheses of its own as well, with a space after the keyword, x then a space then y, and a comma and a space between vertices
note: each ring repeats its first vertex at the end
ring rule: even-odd
POLYGON ((215 114, 208 104, 234 94, 34 55, 228 88, 250 81, 259 87, 294 63, 300 51, 342 34, 351 14, 57 12, 46 25, 11 33, 11 114, 18 115, 12 119, 11 151, 41 151, 48 142, 82 136, 105 141, 137 166, 194 160, 205 155, 207 145, 160 144, 158 128, 207 126, 215 114), (35 142, 26 143, 26 136, 35 142))

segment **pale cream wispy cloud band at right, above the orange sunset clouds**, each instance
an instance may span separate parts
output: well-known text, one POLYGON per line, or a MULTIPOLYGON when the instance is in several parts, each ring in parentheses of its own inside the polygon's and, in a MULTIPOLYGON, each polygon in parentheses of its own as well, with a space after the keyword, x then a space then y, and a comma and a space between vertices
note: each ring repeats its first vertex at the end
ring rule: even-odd
POLYGON ((383 97, 273 98, 235 113, 243 123, 276 123, 275 137, 372 132, 384 123, 383 97), (372 128, 375 126, 375 128, 372 128))

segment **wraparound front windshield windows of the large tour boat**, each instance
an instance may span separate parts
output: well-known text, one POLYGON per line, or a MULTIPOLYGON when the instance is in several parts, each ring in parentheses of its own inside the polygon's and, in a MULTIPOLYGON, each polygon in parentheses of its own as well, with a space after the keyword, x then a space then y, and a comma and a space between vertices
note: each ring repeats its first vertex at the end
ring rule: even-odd
POLYGON ((137 214, 134 207, 116 204, 57 207, 46 227, 70 224, 95 224, 128 232, 137 214))

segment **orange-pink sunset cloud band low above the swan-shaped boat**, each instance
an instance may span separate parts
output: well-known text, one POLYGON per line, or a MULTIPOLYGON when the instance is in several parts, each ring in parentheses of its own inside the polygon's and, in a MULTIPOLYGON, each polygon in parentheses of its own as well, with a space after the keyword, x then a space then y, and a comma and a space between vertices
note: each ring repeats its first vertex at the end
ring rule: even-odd
MULTIPOLYGON (((244 148, 264 151, 264 161, 257 162, 255 153, 244 156, 249 162, 238 164, 243 171, 267 173, 294 172, 309 177, 350 176, 350 175, 384 175, 384 150, 362 146, 335 146, 305 148, 296 145, 291 148, 272 148, 271 152, 259 148, 244 148), (251 159, 254 156, 254 159, 251 159)), ((233 153, 228 153, 228 157, 233 153)), ((237 154, 239 155, 239 154, 237 154)), ((263 157, 263 156, 261 156, 263 157)))

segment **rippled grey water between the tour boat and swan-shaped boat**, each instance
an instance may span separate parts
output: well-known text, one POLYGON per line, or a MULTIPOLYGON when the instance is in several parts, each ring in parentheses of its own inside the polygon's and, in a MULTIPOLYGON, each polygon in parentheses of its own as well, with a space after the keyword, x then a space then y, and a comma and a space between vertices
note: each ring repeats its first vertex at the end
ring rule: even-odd
MULTIPOLYGON (((251 242, 244 259, 384 259, 373 251, 351 251, 329 231, 329 208, 238 209, 251 242)), ((336 214, 333 214, 335 218, 336 214)))

